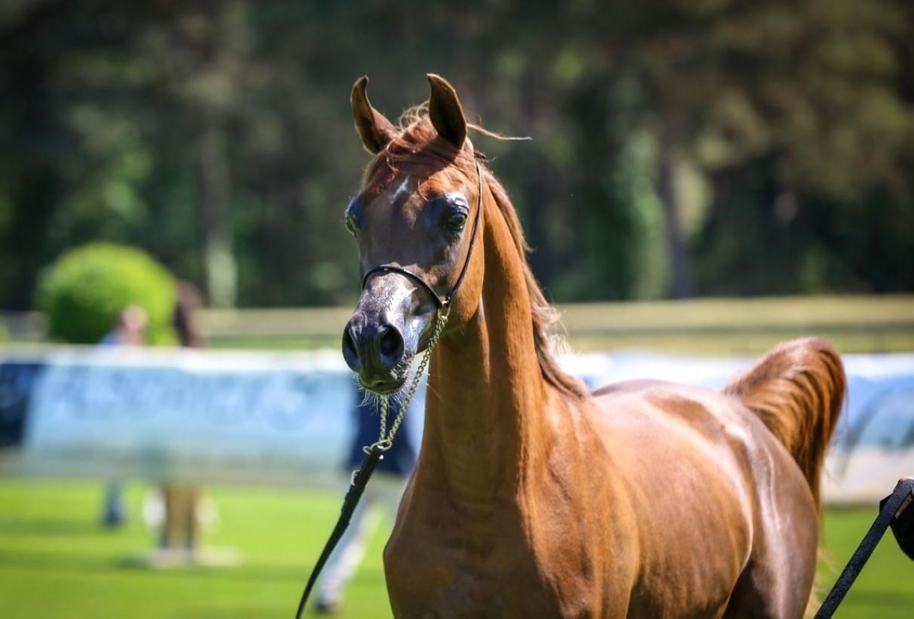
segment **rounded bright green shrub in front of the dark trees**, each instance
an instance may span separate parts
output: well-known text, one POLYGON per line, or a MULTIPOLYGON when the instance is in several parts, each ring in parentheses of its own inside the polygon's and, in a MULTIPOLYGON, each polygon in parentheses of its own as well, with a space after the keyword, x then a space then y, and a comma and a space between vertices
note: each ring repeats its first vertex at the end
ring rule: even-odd
POLYGON ((84 245, 60 256, 38 283, 37 306, 47 320, 48 337, 57 341, 98 343, 131 304, 149 315, 147 342, 174 343, 175 279, 141 250, 84 245))

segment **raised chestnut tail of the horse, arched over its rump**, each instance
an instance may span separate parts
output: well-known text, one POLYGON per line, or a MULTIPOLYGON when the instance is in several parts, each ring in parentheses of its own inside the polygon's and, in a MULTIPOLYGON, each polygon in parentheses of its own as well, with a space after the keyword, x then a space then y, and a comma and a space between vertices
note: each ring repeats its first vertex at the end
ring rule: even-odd
POLYGON ((831 344, 804 337, 773 348, 724 390, 742 400, 800 465, 821 508, 819 481, 847 391, 845 368, 831 344))

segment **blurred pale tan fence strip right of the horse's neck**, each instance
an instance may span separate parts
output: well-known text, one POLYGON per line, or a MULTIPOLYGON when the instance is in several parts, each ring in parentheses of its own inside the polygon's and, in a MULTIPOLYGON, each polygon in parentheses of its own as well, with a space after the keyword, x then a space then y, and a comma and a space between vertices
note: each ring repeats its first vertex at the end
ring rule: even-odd
POLYGON ((843 352, 914 350, 914 295, 694 299, 560 308, 572 347, 758 353, 824 336, 843 352))

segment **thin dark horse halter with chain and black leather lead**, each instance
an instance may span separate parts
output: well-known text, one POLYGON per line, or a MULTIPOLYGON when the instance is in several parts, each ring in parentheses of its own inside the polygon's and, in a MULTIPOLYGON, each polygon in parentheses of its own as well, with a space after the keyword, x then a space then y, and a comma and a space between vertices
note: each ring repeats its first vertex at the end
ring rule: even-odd
MULTIPOLYGON (((474 155, 478 158, 482 154, 474 152, 474 155)), ((362 497, 362 493, 365 491, 365 486, 367 486, 368 479, 375 471, 377 462, 384 457, 384 453, 390 449, 391 445, 393 445, 394 437, 399 431, 400 424, 403 423, 403 417, 406 414, 407 408, 409 408, 409 402, 412 400, 412 397, 416 395, 416 390, 419 389, 419 381, 422 378, 422 374, 425 373, 426 366, 429 364, 431 350, 435 347, 436 344, 438 344, 438 340, 441 338, 441 333, 444 331, 444 326, 448 324, 448 315, 451 313, 451 302, 457 295, 457 291, 460 290, 460 287, 463 283, 463 276, 466 275, 467 269, 470 267, 470 258, 473 256, 473 247, 476 244, 476 233, 479 229, 479 220, 482 218, 483 213, 483 170, 479 165, 479 161, 476 161, 476 176, 479 178, 479 196, 476 200, 476 217, 473 219, 473 232, 471 232, 470 244, 466 250, 466 258, 463 260, 463 267, 461 269, 460 275, 457 276, 457 281, 454 282, 450 293, 447 293, 447 295, 442 298, 437 292, 435 292, 435 289, 431 287, 430 283, 423 280, 416 273, 407 271, 403 267, 400 267, 396 264, 381 264, 376 266, 365 273, 365 276, 362 278, 362 290, 365 290, 368 279, 373 274, 378 272, 399 273, 400 275, 404 275, 413 282, 418 283, 421 288, 424 288, 426 291, 428 291, 428 293, 431 294, 431 298, 435 301, 435 304, 438 305, 438 311, 435 313, 435 327, 434 331, 431 333, 429 346, 425 348, 425 352, 422 354, 419 366, 416 368, 416 373, 409 385, 409 390, 407 391, 406 398, 403 400, 402 405, 400 405, 397 419, 395 419, 393 425, 390 426, 390 432, 387 432, 388 396, 381 397, 380 435, 378 436, 376 443, 366 445, 363 448, 363 451, 366 453, 365 460, 362 462, 362 465, 352 473, 349 490, 346 492, 345 499, 343 499, 343 508, 340 510, 340 518, 336 521, 336 526, 333 530, 333 533, 330 534, 330 539, 327 539, 327 543, 324 546, 324 550, 321 552, 321 556, 318 557, 317 562, 314 564, 314 570, 311 572, 311 577, 308 579, 308 584, 304 587, 302 599, 298 603, 298 611, 295 613, 295 619, 301 619, 302 613, 304 612, 304 607, 308 603, 308 596, 311 594, 311 590, 314 589, 314 583, 317 582, 317 576, 321 573, 321 570, 324 568, 324 563, 326 563, 326 561, 330 558, 330 553, 333 552, 337 542, 341 537, 343 537, 345 529, 349 526, 349 520, 352 518, 352 514, 356 510, 358 500, 362 497)))

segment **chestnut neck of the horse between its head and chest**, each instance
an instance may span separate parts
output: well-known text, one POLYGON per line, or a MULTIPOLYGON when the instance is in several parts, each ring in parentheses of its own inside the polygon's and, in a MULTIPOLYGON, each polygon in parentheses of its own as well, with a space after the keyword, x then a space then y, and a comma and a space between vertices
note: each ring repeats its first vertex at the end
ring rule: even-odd
POLYGON ((526 450, 546 432, 551 391, 537 359, 524 263, 496 205, 487 208, 482 301, 432 356, 417 468, 417 481, 434 478, 452 500, 480 506, 516 495, 526 450))

